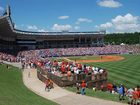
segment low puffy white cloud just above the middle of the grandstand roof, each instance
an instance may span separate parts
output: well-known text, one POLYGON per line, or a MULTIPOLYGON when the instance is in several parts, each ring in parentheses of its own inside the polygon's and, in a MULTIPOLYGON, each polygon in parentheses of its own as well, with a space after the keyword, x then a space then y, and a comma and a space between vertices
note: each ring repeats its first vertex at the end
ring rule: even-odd
POLYGON ((69 31, 71 29, 72 29, 72 26, 69 24, 66 24, 66 25, 54 24, 52 27, 52 30, 54 31, 69 31))

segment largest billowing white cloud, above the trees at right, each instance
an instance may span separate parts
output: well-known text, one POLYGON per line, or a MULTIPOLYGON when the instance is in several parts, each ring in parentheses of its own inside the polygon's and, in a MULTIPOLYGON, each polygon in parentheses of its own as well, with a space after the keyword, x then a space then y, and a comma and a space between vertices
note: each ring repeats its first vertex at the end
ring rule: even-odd
POLYGON ((127 13, 124 16, 118 15, 110 22, 95 26, 99 29, 108 29, 113 32, 140 32, 139 17, 127 13))

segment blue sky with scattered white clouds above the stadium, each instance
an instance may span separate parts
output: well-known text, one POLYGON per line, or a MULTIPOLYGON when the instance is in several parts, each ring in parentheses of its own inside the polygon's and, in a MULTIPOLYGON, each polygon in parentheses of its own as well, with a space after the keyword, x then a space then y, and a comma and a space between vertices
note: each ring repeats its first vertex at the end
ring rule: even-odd
POLYGON ((140 32, 140 0, 0 0, 15 28, 35 32, 140 32))

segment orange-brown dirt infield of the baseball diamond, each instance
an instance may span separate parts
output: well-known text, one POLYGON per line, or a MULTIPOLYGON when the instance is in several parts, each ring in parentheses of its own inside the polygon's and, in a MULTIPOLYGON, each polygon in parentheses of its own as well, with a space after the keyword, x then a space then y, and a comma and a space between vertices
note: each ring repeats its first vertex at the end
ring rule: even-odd
MULTIPOLYGON (((112 62, 112 61, 120 61, 123 60, 124 57, 122 56, 115 56, 115 55, 103 55, 100 56, 99 59, 93 59, 93 60, 88 60, 88 59, 83 59, 83 60, 76 60, 78 63, 91 63, 91 62, 112 62)), ((68 58, 67 58, 68 60, 68 58)))

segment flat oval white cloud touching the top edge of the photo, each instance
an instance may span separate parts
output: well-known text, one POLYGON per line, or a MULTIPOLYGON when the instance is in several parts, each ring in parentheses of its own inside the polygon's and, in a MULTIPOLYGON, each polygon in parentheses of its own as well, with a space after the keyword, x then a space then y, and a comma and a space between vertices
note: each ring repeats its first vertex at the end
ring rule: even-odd
POLYGON ((121 3, 115 0, 100 0, 97 4, 101 7, 108 7, 108 8, 118 8, 122 6, 121 3))

